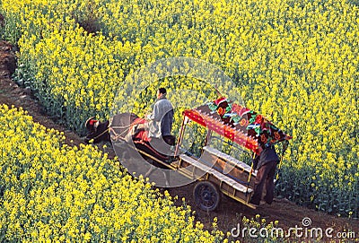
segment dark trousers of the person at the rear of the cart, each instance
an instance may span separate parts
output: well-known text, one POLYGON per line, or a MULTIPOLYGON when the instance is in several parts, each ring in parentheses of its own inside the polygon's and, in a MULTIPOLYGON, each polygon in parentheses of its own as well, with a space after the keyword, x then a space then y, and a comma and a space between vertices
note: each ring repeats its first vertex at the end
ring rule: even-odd
POLYGON ((270 161, 262 165, 257 171, 257 177, 254 181, 254 192, 250 202, 252 204, 259 204, 262 198, 263 187, 266 185, 266 195, 264 200, 267 204, 272 204, 275 193, 274 177, 276 174, 277 161, 270 161))

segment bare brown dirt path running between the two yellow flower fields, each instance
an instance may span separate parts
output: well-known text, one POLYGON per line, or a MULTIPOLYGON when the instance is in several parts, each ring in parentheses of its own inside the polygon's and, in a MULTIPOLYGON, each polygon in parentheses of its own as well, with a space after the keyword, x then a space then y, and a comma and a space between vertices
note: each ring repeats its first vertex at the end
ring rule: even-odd
MULTIPOLYGON (((83 139, 73 132, 66 130, 63 126, 57 125, 52 119, 42 112, 38 102, 31 98, 31 91, 19 87, 11 80, 11 75, 15 69, 15 59, 13 46, 5 41, 0 41, 0 104, 4 103, 17 108, 22 107, 27 110, 35 122, 48 128, 55 128, 62 131, 66 135, 66 143, 78 145, 83 143, 83 139)), ((113 152, 109 151, 112 155, 113 152)), ((192 199, 193 185, 186 187, 170 188, 171 195, 178 195, 179 199, 176 204, 182 204, 182 197, 186 198, 189 205, 193 205, 192 199)), ((311 226, 308 228, 321 228, 326 230, 328 227, 333 228, 333 234, 337 232, 355 232, 355 237, 359 241, 359 221, 353 219, 339 218, 335 215, 316 212, 296 204, 286 199, 275 199, 272 205, 261 205, 257 210, 251 210, 248 207, 232 200, 223 195, 219 208, 213 213, 205 213, 197 210, 196 206, 192 206, 197 211, 196 219, 205 224, 206 229, 211 229, 213 219, 218 219, 218 229, 223 232, 232 230, 241 222, 241 218, 255 217, 259 214, 262 218, 269 221, 279 221, 279 227, 286 230, 289 228, 302 227, 302 219, 308 217, 311 219, 311 226)), ((302 239, 301 239, 302 240, 302 239)), ((356 242, 358 242, 356 241, 356 242)), ((346 241, 344 241, 346 242, 346 241)), ((349 241, 348 241, 349 242, 349 241)), ((352 241, 355 242, 355 241, 352 241)))

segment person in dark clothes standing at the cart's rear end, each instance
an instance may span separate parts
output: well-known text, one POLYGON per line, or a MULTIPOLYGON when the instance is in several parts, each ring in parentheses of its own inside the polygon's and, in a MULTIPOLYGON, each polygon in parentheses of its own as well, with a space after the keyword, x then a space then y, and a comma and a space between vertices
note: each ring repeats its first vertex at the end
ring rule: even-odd
POLYGON ((276 165, 279 157, 275 146, 270 144, 253 161, 253 169, 258 169, 256 180, 254 182, 254 192, 250 199, 250 204, 259 205, 263 187, 266 185, 266 195, 264 200, 267 204, 272 204, 275 191, 274 177, 276 174, 276 165))

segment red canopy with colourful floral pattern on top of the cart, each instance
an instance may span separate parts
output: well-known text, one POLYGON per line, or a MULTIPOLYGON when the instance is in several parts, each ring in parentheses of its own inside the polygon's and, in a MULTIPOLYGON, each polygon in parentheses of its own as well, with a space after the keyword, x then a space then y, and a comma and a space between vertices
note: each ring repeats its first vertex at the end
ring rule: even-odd
POLYGON ((257 154, 270 144, 292 139, 266 117, 225 98, 187 109, 184 116, 257 154))

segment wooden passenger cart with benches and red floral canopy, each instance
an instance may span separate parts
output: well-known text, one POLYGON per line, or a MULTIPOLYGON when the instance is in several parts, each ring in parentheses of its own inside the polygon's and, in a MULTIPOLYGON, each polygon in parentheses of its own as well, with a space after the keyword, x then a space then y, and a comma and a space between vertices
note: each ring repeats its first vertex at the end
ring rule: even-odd
MULTIPOLYGON (((134 119, 131 123, 138 124, 134 119)), ((116 128, 117 126, 110 128, 113 135, 118 135, 116 128)), ((131 129, 133 130, 133 127, 131 129)), ((252 157, 259 154, 268 144, 284 142, 278 166, 280 167, 283 153, 291 138, 267 118, 221 98, 197 108, 184 110, 180 133, 177 143, 172 147, 171 156, 157 156, 153 150, 145 149, 150 148, 149 146, 139 147, 138 144, 145 145, 142 139, 137 140, 133 148, 147 160, 155 161, 157 166, 175 170, 182 176, 196 181, 193 196, 201 210, 215 210, 220 204, 221 193, 255 209, 257 205, 250 204, 257 175, 253 169, 252 157), (206 134, 197 154, 190 152, 184 144, 186 127, 193 123, 203 127, 206 134), (226 148, 227 152, 218 149, 218 144, 226 148), (238 152, 233 152, 234 149, 238 152), (232 154, 250 159, 244 162, 232 154)))

